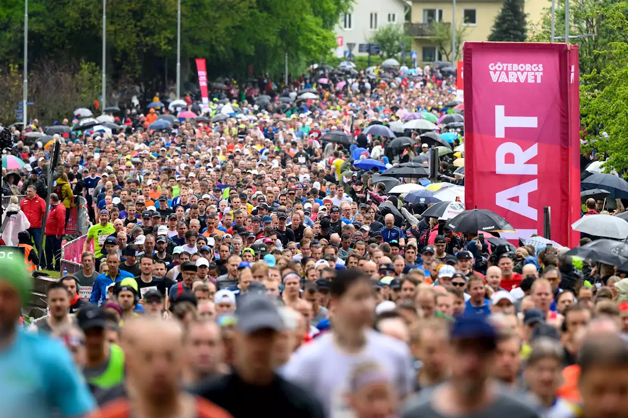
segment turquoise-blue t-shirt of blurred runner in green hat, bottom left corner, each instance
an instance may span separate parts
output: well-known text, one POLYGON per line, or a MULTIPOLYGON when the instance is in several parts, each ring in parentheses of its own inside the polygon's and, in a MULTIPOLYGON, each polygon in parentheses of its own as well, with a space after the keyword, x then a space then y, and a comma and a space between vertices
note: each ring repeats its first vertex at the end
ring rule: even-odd
POLYGON ((63 343, 22 329, 0 350, 0 393, 3 417, 78 417, 96 407, 63 343))

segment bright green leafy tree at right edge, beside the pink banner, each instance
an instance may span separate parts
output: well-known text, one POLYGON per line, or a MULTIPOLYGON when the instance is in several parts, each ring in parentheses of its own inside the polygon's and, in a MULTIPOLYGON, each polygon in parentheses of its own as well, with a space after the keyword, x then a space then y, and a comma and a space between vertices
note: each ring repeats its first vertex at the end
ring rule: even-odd
MULTIPOLYGON (((617 28, 617 37, 628 36, 628 19, 617 5, 604 17, 617 28)), ((599 51, 605 67, 583 76, 580 85, 580 123, 587 144, 583 152, 597 149, 609 156, 605 167, 625 171, 628 167, 628 43, 611 42, 599 51)))

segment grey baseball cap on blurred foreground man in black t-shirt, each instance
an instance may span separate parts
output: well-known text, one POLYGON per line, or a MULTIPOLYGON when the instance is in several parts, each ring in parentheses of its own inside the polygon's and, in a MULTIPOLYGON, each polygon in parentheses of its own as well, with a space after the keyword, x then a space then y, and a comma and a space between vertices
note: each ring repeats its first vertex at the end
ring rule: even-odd
POLYGON ((236 319, 237 328, 245 334, 267 329, 279 332, 284 328, 277 306, 266 295, 242 295, 237 306, 236 319))

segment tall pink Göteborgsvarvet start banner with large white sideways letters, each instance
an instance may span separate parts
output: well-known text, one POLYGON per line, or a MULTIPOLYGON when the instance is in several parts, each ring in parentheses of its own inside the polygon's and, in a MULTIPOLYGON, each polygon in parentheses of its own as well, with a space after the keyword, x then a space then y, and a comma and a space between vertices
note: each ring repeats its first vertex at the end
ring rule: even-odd
POLYGON ((560 43, 465 42, 465 204, 506 218, 506 238, 543 235, 569 247, 579 234, 578 48, 560 43))

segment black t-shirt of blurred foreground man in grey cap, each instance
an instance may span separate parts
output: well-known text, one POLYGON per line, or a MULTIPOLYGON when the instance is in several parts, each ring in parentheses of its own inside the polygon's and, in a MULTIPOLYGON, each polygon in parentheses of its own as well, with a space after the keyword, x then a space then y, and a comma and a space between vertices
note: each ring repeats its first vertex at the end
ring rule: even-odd
POLYGON ((259 387, 242 382, 237 373, 232 373, 205 380, 194 392, 234 417, 259 415, 259 405, 264 405, 264 415, 268 417, 325 417, 318 399, 279 375, 268 386, 259 387))

